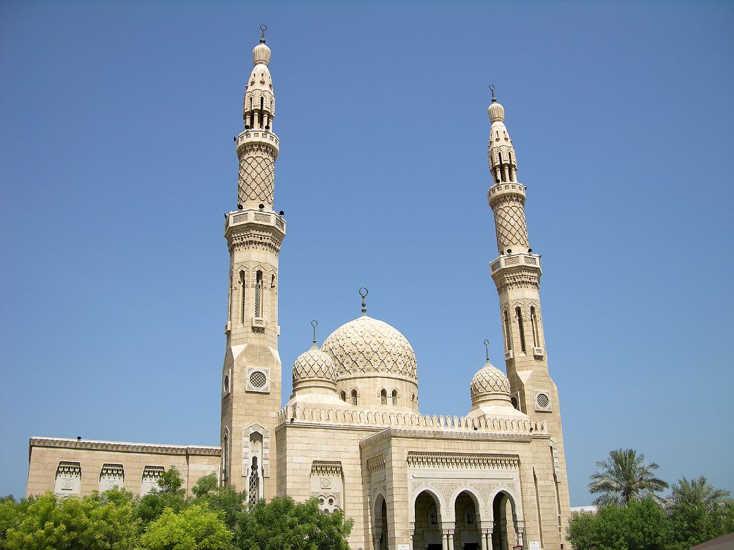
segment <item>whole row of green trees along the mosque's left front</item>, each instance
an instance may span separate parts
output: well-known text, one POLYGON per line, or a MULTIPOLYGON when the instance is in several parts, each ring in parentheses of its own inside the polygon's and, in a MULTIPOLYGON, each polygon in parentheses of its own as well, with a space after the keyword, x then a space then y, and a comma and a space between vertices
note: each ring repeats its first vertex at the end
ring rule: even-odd
POLYGON ((290 498, 247 505, 214 474, 186 497, 169 469, 143 496, 112 489, 59 498, 0 499, 0 550, 348 550, 352 520, 290 498))

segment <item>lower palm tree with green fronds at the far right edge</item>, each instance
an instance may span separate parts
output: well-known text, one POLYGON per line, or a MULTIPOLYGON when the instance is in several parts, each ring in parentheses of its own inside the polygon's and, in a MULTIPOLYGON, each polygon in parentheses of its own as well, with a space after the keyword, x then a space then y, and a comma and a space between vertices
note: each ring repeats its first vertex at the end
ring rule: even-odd
POLYGON ((671 548, 688 550, 730 532, 727 530, 729 496, 729 491, 714 488, 705 477, 678 480, 665 503, 673 534, 671 548))

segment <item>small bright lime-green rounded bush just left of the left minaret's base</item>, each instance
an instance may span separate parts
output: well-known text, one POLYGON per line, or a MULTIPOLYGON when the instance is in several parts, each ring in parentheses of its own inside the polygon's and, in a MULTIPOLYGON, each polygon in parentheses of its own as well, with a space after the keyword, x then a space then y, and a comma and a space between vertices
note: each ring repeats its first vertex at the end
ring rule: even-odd
POLYGON ((145 550, 225 550, 232 532, 218 513, 203 504, 193 504, 179 513, 170 508, 153 521, 140 537, 145 550))

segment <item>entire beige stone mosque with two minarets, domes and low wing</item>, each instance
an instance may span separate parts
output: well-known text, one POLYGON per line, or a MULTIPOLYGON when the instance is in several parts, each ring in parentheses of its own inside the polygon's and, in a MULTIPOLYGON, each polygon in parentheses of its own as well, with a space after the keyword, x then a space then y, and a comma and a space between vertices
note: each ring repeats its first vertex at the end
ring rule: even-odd
MULTIPOLYGON (((216 472, 251 502, 316 497, 355 521, 360 550, 560 550, 570 505, 559 397, 548 373, 540 257, 529 246, 526 188, 504 107, 489 107, 487 193, 498 257, 506 374, 487 363, 470 381, 465 416, 418 410, 418 367, 406 338, 363 315, 293 365, 281 403, 278 255, 286 236, 274 206, 275 95, 264 37, 244 95, 237 209, 230 253, 219 447, 33 437, 27 494, 90 494, 118 485, 146 494, 176 466, 188 490, 216 472)), ((360 290, 360 293, 366 293, 360 290)))

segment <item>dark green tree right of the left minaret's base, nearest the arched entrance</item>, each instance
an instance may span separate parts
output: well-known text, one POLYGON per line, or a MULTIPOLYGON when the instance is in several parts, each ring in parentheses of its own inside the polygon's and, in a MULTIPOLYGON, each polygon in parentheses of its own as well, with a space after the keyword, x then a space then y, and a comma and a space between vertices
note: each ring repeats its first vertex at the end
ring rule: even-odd
POLYGON ((243 513, 237 524, 235 546, 242 550, 349 550, 346 538, 354 522, 341 511, 319 510, 311 499, 296 504, 291 497, 264 500, 243 513))

